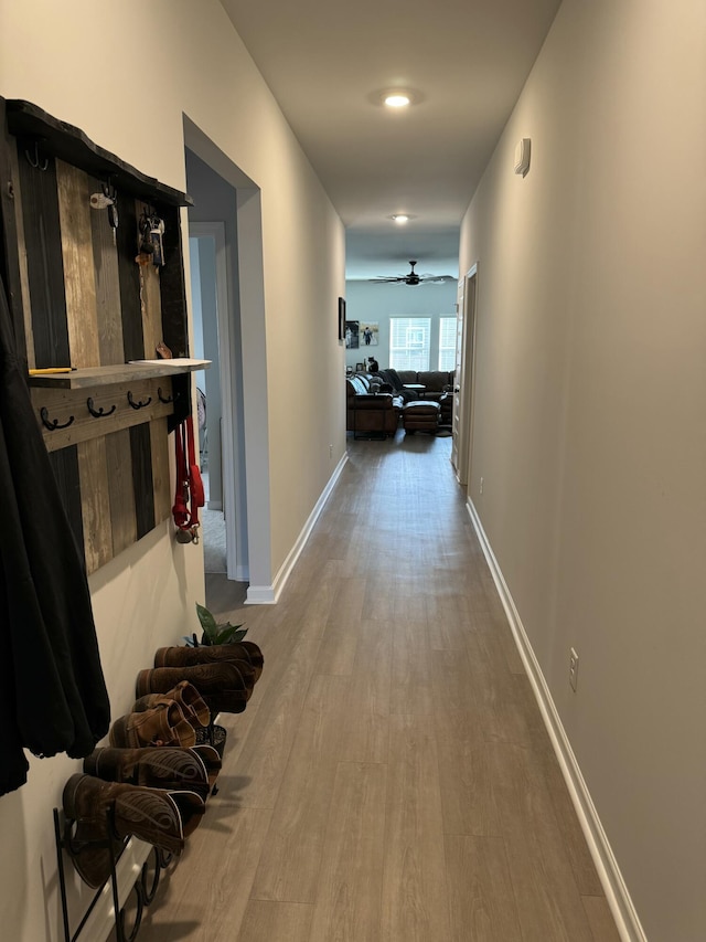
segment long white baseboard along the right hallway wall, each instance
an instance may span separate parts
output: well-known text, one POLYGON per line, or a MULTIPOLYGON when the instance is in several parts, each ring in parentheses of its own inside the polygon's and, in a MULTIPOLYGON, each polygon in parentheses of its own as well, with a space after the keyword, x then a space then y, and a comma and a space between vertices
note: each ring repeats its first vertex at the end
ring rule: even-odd
POLYGON ((588 849, 590 850, 593 864, 598 871, 598 877, 603 887, 606 899, 610 906, 610 910, 616 920, 618 932, 622 942, 648 942, 644 930, 640 923, 640 918, 633 906, 632 899, 622 878, 618 861, 610 847, 608 836, 603 830, 603 826, 596 811, 596 806, 591 800, 586 780, 581 774, 580 766, 577 762, 574 750, 569 742, 561 719, 556 709, 556 705, 549 691, 549 687, 545 680, 539 663, 535 657, 534 650, 530 643, 530 638, 524 629, 520 613, 515 607, 515 603, 507 588, 507 583, 500 569, 498 560, 493 553, 490 541, 483 530, 483 526, 478 516, 478 511, 473 501, 469 498, 467 501, 467 510, 471 518, 471 522, 475 529, 480 540, 485 560, 490 567, 500 600, 503 603, 507 622, 512 631, 517 650, 524 664, 527 677, 532 685, 534 696, 536 698, 542 719, 552 740, 552 745, 556 753, 556 758, 561 769, 561 774, 566 781, 571 802, 576 809, 579 824, 586 837, 588 849))

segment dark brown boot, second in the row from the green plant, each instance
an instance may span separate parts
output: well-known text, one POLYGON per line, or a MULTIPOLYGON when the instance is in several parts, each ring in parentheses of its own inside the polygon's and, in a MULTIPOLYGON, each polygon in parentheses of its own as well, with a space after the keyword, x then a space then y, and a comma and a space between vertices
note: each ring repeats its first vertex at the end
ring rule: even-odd
POLYGON ((165 694, 181 680, 189 680, 206 701, 212 713, 242 713, 253 692, 235 664, 196 664, 192 667, 156 667, 140 670, 136 696, 165 694))

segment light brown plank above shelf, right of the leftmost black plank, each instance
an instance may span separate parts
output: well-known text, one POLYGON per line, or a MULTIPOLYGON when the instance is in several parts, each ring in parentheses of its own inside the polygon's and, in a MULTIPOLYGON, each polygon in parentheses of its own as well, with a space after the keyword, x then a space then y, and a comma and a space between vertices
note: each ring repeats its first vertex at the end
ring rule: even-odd
POLYGON ((88 176, 83 170, 57 160, 56 189, 71 364, 96 367, 100 362, 100 353, 88 176))

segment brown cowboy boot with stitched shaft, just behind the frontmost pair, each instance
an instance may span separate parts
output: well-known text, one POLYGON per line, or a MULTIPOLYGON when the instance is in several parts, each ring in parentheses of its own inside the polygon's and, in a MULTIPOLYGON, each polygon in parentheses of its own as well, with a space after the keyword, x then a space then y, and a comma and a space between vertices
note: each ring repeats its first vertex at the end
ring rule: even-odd
MULTIPOLYGON (((211 747, 208 747, 211 749, 211 747)), ((165 788, 168 791, 186 788, 195 792, 204 801, 218 774, 221 761, 218 753, 218 770, 213 774, 213 756, 207 755, 211 769, 204 758, 194 749, 94 749, 84 759, 84 772, 95 775, 106 782, 122 782, 130 785, 141 785, 147 788, 165 788), (213 782, 211 777, 213 776, 213 782)))

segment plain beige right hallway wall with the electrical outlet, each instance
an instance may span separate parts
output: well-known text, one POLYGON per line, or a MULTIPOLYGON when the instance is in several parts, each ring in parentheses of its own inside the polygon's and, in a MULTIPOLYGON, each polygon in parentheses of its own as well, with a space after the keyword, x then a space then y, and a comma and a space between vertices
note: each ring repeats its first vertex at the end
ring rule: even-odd
POLYGON ((565 0, 461 233, 470 496, 653 942, 706 938, 705 114, 703 0, 565 0))

